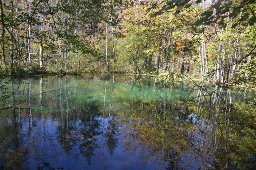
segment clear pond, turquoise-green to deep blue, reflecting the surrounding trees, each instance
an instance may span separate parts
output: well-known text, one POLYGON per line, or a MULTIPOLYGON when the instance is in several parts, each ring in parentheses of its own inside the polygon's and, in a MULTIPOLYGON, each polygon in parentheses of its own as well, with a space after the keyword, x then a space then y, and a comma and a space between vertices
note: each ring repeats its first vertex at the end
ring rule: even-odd
POLYGON ((0 108, 27 101, 0 111, 0 169, 255 168, 255 92, 200 85, 127 75, 10 79, 0 108))

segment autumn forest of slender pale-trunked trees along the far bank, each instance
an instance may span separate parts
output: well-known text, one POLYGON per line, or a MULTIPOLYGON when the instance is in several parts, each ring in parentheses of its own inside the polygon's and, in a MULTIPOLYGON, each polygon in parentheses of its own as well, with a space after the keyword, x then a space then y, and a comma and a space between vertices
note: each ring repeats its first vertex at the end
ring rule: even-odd
POLYGON ((256 84, 254 0, 1 0, 1 76, 112 72, 256 84))

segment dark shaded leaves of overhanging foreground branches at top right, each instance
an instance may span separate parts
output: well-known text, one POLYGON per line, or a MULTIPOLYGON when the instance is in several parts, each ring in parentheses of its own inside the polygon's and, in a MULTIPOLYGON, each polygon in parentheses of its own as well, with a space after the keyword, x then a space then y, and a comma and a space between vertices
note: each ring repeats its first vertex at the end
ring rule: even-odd
MULTIPOLYGON (((196 4, 190 2, 189 0, 166 0, 166 4, 162 7, 162 9, 158 10, 152 17, 160 15, 164 12, 168 12, 168 10, 176 8, 176 12, 180 12, 181 8, 194 8, 194 6, 201 6, 204 0, 197 0, 196 4)), ((164 3, 163 3, 164 4, 164 3)), ((152 6, 152 8, 156 8, 156 3, 152 6)), ((149 8, 149 11, 152 9, 149 8)), ((226 27, 225 20, 229 18, 239 18, 242 15, 242 18, 238 19, 234 23, 234 27, 239 24, 239 22, 248 22, 250 25, 253 25, 256 21, 254 13, 255 13, 255 1, 254 0, 217 0, 212 4, 208 4, 206 7, 206 11, 202 13, 202 18, 195 22, 195 25, 201 24, 212 24, 219 23, 220 26, 226 27), (254 9, 254 10, 253 10, 254 9), (250 17, 249 17, 250 16, 250 17)))

